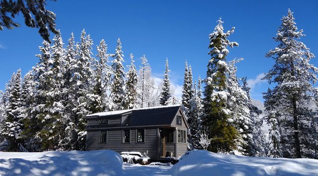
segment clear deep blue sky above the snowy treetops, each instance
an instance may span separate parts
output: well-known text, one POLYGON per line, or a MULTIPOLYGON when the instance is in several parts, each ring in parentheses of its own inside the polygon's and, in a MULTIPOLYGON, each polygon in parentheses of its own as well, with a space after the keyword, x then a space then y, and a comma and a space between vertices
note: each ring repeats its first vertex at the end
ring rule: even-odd
MULTIPOLYGON (((125 64, 130 63, 130 53, 135 55, 137 65, 146 54, 153 75, 161 77, 168 57, 171 81, 176 86, 183 83, 185 60, 191 64, 194 78, 205 78, 208 36, 222 16, 225 30, 236 27, 230 40, 239 43, 239 47, 230 49, 228 60, 244 58, 238 64, 238 76, 249 79, 252 97, 258 100, 268 88, 266 82, 260 81, 261 74, 273 65, 264 56, 277 46, 272 37, 288 8, 294 12, 298 28, 304 29, 306 36, 302 41, 318 55, 317 7, 317 0, 49 0, 47 5, 57 15, 56 27, 61 30, 64 43, 71 32, 79 41, 80 31, 85 28, 94 41, 94 50, 105 39, 108 52, 113 52, 120 37, 125 64)), ((38 29, 25 27, 22 15, 16 20, 22 27, 0 31, 2 90, 13 72, 21 68, 25 74, 38 62, 35 55, 42 43, 38 29)), ((312 64, 318 66, 317 58, 312 64)))

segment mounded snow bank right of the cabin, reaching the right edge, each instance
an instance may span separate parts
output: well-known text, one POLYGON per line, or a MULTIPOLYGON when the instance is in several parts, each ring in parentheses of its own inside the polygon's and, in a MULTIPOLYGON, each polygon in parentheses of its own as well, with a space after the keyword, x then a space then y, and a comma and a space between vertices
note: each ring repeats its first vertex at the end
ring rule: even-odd
POLYGON ((318 176, 318 160, 272 159, 197 150, 171 168, 172 176, 318 176))

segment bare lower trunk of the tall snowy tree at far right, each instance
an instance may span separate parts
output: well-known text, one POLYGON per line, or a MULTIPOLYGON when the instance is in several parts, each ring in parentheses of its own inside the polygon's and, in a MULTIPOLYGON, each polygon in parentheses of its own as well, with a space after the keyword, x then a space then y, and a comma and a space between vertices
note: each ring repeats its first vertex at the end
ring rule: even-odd
POLYGON ((294 138, 295 138, 296 158, 302 158, 302 154, 300 151, 298 117, 297 117, 297 106, 296 106, 295 95, 293 95, 293 116, 294 116, 294 138))

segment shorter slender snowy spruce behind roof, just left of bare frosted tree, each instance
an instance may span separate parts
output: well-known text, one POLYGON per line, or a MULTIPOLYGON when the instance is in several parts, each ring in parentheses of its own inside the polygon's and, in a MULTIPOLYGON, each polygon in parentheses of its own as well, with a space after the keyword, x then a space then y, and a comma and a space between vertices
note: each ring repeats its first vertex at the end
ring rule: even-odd
POLYGON ((134 55, 130 54, 131 64, 126 74, 126 89, 125 96, 123 99, 123 109, 133 109, 137 107, 137 70, 134 64, 134 55))

